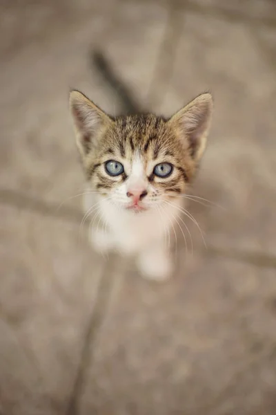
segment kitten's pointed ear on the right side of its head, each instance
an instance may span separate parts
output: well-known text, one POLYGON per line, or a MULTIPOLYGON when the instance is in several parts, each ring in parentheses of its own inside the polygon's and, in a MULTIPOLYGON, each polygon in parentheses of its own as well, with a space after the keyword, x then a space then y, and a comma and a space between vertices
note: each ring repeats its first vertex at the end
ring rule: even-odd
POLYGON ((169 122, 183 140, 188 140, 190 155, 198 161, 204 153, 213 112, 213 98, 203 93, 178 111, 169 122))

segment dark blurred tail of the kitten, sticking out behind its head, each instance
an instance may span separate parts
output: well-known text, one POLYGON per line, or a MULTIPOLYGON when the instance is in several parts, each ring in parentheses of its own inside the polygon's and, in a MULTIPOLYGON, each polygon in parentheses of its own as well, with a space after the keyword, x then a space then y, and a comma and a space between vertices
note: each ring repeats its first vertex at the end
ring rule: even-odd
POLYGON ((94 50, 90 54, 90 61, 108 85, 119 95, 121 104, 124 107, 124 113, 138 113, 140 111, 139 104, 137 104, 124 82, 112 71, 106 57, 99 50, 94 50))

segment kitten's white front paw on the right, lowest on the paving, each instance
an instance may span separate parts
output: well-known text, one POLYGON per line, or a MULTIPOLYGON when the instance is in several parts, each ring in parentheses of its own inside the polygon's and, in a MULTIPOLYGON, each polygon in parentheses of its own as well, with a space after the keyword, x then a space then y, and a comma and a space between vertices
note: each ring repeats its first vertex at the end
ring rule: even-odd
POLYGON ((146 279, 161 282, 172 275, 172 260, 164 250, 141 252, 137 257, 137 266, 146 279))

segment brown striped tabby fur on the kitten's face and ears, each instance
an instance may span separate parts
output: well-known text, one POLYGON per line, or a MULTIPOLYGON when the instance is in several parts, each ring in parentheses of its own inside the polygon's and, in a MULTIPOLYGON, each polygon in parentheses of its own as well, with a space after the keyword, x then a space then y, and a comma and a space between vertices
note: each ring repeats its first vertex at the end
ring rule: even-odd
POLYGON ((165 120, 153 114, 111 118, 78 91, 70 94, 72 116, 75 121, 77 145, 86 178, 99 192, 106 194, 113 186, 126 180, 127 174, 110 177, 102 168, 107 160, 132 163, 136 151, 148 163, 171 163, 175 174, 158 178, 152 171, 148 181, 166 194, 184 192, 199 164, 206 147, 213 100, 209 93, 195 98, 165 120))

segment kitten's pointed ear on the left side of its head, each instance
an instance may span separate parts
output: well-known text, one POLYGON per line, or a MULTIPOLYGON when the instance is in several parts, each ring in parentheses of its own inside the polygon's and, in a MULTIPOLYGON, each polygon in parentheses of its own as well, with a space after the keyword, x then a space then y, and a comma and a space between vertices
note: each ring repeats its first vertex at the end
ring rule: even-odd
POLYGON ((75 124, 77 146, 83 156, 110 122, 110 118, 97 105, 79 91, 70 93, 70 110, 75 124))

